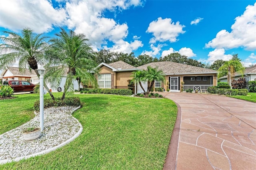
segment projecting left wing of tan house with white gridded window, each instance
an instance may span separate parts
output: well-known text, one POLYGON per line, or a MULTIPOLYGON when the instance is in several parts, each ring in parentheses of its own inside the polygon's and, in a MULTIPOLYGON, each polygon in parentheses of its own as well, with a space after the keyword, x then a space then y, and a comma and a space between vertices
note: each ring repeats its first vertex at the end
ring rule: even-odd
POLYGON ((124 61, 110 64, 100 63, 98 68, 100 69, 98 74, 99 88, 109 89, 127 89, 129 80, 132 79, 132 71, 138 70, 124 61))

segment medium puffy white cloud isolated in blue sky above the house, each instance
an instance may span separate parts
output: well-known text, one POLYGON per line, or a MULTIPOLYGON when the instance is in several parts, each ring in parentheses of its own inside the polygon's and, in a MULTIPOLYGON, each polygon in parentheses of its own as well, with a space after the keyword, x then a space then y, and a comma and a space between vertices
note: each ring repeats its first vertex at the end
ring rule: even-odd
POLYGON ((177 37, 185 33, 185 31, 182 30, 184 27, 185 26, 180 25, 180 22, 172 22, 171 18, 162 19, 159 17, 149 24, 146 32, 153 34, 150 43, 166 41, 176 42, 178 41, 177 37))

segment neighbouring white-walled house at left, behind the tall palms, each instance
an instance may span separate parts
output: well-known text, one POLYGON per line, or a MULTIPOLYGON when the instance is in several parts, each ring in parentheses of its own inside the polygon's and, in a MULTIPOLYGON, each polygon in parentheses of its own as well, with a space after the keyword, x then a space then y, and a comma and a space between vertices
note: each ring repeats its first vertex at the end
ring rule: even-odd
MULTIPOLYGON (((7 69, 3 70, 2 73, 0 72, 0 78, 2 78, 2 82, 5 80, 23 80, 23 81, 28 81, 32 84, 38 84, 39 79, 36 75, 36 72, 34 70, 25 69, 25 73, 21 74, 19 72, 18 67, 7 67, 7 69)), ((64 85, 66 82, 66 76, 62 78, 62 81, 60 83, 60 91, 64 90, 64 85)), ((78 89, 78 82, 74 81, 74 90, 78 89)), ((58 92, 58 89, 51 89, 51 85, 48 83, 47 84, 48 88, 50 88, 50 91, 52 92, 58 92)), ((81 86, 82 87, 82 86, 81 86)))

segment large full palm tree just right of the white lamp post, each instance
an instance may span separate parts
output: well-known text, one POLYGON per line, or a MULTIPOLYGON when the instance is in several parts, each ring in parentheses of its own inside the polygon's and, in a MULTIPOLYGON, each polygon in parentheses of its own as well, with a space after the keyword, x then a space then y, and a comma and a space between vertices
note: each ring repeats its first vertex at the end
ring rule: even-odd
POLYGON ((73 81, 77 78, 81 81, 90 80, 92 85, 97 86, 97 80, 92 74, 97 63, 92 60, 92 47, 84 34, 76 34, 72 30, 66 32, 60 28, 61 32, 55 34, 49 42, 50 50, 47 52, 48 60, 48 81, 58 87, 62 77, 66 76, 62 100, 65 99, 66 92, 73 90, 73 81))

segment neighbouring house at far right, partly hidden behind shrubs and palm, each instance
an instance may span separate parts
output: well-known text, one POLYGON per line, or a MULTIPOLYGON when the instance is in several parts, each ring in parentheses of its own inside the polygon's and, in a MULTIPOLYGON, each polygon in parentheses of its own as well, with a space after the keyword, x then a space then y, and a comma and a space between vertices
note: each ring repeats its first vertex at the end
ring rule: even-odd
MULTIPOLYGON (((242 77, 242 74, 239 72, 235 72, 234 73, 234 79, 237 80, 240 77, 242 77)), ((256 65, 246 68, 244 70, 244 74, 243 77, 246 79, 246 82, 248 81, 253 81, 254 79, 256 79, 256 65)), ((224 76, 224 77, 220 77, 219 78, 220 82, 228 82, 228 76, 224 76)))

